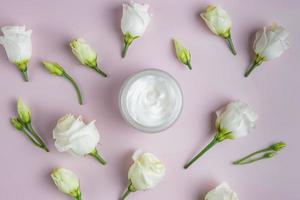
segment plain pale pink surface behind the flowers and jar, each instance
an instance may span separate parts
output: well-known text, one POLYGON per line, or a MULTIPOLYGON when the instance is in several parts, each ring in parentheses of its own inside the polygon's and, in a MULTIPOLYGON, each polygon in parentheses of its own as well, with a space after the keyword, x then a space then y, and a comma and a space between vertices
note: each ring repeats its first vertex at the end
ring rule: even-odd
POLYGON ((167 174, 155 189, 134 193, 129 199, 200 200, 222 181, 227 181, 242 200, 300 199, 300 1, 149 0, 153 20, 125 59, 120 56, 122 2, 1 0, 1 26, 24 24, 33 29, 33 56, 30 82, 24 83, 3 48, 0 50, 0 199, 69 199, 55 188, 49 176, 52 168, 66 167, 80 177, 84 199, 116 200, 127 187, 127 170, 136 148, 157 155, 165 163, 167 174), (237 56, 199 18, 199 12, 209 3, 222 5, 230 14, 237 56), (290 31, 291 47, 246 79, 243 73, 253 56, 253 35, 273 21, 290 31), (72 56, 68 42, 79 36, 97 49, 108 79, 81 67, 72 56), (175 58, 173 37, 191 50, 192 71, 175 58), (67 81, 43 69, 44 59, 62 64, 78 81, 84 94, 83 106, 79 106, 67 81), (177 123, 156 135, 129 127, 118 109, 122 82, 149 67, 172 74, 181 84, 185 100, 177 123), (9 118, 16 115, 18 97, 30 105, 33 124, 46 139, 50 153, 34 147, 11 127, 9 118), (212 138, 214 111, 236 99, 247 102, 259 114, 256 129, 246 138, 219 144, 189 170, 183 170, 184 163, 212 138), (107 166, 89 157, 56 151, 52 129, 66 113, 97 120, 102 136, 98 149, 107 166), (278 156, 247 166, 231 165, 231 161, 281 140, 288 147, 278 156))

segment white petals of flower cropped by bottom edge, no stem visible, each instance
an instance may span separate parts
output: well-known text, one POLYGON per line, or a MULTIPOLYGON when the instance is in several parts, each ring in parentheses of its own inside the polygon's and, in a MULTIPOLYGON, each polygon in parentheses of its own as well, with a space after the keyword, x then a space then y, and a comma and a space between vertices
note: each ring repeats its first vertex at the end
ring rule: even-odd
POLYGON ((223 182, 213 190, 209 191, 205 200, 238 200, 237 194, 232 191, 226 182, 223 182))

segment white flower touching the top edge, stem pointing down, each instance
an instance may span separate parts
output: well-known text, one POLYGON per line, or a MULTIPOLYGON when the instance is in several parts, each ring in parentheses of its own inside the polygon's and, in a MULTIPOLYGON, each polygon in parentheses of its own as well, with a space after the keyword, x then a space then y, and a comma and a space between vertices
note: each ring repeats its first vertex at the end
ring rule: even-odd
POLYGON ((128 47, 133 40, 141 37, 150 20, 151 15, 148 12, 149 5, 139 4, 134 1, 123 4, 123 16, 121 19, 121 29, 124 35, 124 49, 122 57, 125 57, 128 47))

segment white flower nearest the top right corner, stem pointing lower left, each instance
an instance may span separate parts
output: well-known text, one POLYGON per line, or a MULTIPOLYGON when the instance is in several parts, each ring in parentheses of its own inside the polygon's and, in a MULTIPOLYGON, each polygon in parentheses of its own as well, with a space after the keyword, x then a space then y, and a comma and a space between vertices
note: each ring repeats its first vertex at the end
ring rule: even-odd
POLYGON ((288 35, 288 31, 276 23, 259 30, 255 35, 253 44, 256 56, 251 67, 245 73, 245 77, 248 77, 249 74, 264 61, 269 61, 281 56, 289 47, 287 40, 288 35))

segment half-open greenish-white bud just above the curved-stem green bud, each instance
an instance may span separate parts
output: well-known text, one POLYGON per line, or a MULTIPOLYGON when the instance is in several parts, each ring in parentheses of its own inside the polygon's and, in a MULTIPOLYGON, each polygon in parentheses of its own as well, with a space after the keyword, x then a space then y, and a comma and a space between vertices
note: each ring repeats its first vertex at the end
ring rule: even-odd
POLYGON ((82 65, 94 69, 104 77, 107 75, 99 68, 96 51, 83 38, 77 38, 70 42, 73 54, 82 65))

